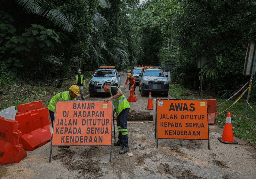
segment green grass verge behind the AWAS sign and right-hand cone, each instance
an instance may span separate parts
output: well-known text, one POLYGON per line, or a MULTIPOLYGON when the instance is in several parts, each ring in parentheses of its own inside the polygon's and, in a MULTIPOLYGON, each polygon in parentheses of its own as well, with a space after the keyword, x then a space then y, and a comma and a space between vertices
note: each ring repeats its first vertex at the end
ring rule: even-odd
MULTIPOLYGON (((170 85, 169 94, 177 99, 201 99, 201 93, 199 90, 191 90, 187 89, 181 85, 170 85)), ((241 97, 232 107, 230 107, 242 94, 240 92, 237 94, 236 97, 231 98, 227 102, 227 99, 213 97, 212 92, 203 91, 202 92, 202 99, 217 99, 217 104, 220 104, 216 111, 220 114, 215 116, 215 123, 224 127, 227 117, 227 112, 230 111, 231 113, 231 121, 232 121, 232 128, 233 133, 235 136, 246 140, 247 142, 251 143, 252 146, 256 146, 256 102, 249 101, 247 112, 245 112, 246 106, 246 99, 247 93, 243 97, 241 97), (228 110, 226 110, 228 109, 228 110), (255 111, 253 111, 253 110, 255 111), (226 111, 225 111, 226 110, 226 111), (223 112, 224 111, 224 112, 223 112), (223 113, 221 113, 223 112, 223 113)))

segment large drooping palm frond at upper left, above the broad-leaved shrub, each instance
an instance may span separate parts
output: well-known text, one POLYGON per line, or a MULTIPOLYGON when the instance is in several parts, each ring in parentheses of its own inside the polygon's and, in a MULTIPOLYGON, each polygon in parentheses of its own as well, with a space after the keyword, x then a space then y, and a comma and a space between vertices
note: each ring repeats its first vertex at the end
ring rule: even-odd
POLYGON ((63 30, 66 30, 68 32, 72 32, 74 30, 74 25, 76 23, 76 16, 72 13, 62 13, 58 9, 41 9, 38 12, 39 15, 43 15, 43 17, 46 15, 47 19, 50 19, 52 22, 54 22, 59 27, 62 26, 63 30))

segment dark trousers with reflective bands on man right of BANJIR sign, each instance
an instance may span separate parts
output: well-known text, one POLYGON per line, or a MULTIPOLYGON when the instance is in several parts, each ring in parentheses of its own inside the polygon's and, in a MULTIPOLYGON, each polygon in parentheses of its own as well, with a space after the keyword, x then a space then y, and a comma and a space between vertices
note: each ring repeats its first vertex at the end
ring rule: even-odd
POLYGON ((128 113, 130 108, 123 109, 119 115, 117 115, 117 128, 118 128, 118 139, 124 147, 128 147, 128 113))

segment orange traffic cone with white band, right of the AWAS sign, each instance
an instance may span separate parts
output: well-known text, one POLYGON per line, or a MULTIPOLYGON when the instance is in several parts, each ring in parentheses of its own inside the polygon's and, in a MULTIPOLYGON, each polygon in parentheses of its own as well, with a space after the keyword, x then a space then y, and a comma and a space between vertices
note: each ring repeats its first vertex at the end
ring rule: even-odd
POLYGON ((231 116, 230 112, 227 114, 226 123, 224 126, 222 137, 218 137, 218 140, 224 144, 237 144, 237 142, 233 138, 233 130, 231 124, 231 116))

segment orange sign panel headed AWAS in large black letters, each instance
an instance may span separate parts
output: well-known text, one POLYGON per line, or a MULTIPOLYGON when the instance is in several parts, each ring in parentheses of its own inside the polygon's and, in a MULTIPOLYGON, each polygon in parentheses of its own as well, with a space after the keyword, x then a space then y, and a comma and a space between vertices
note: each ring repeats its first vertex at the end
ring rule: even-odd
POLYGON ((209 140, 206 100, 157 99, 157 138, 209 140))

